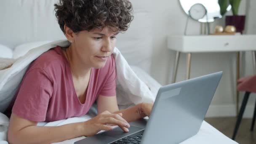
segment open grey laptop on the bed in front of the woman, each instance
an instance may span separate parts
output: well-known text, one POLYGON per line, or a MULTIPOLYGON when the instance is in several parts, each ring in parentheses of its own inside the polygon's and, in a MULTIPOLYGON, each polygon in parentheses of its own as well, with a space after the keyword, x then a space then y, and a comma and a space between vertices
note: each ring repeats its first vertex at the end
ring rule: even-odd
POLYGON ((199 131, 222 72, 161 87, 149 119, 116 127, 75 144, 179 144, 199 131))

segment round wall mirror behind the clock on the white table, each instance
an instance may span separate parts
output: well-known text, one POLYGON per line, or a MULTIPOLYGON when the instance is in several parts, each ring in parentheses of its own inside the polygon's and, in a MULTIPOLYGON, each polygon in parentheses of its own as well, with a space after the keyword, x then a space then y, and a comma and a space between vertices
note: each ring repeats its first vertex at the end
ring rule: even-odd
MULTIPOLYGON (((214 19, 221 18, 220 7, 218 0, 179 0, 181 7, 189 15, 189 10, 192 5, 200 3, 204 5, 207 10, 207 16, 205 15, 202 19, 198 19, 199 22, 213 22, 214 19), (208 20, 207 20, 208 19, 208 20)), ((231 5, 227 7, 227 11, 231 9, 231 5)))

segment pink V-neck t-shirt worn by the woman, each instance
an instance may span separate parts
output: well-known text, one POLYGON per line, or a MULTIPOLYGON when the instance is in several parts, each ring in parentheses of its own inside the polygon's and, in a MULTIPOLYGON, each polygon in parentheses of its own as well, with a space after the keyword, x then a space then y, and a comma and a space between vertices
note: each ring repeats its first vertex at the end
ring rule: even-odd
POLYGON ((115 96, 115 59, 101 69, 91 69, 86 100, 81 104, 67 59, 58 46, 30 64, 14 97, 12 112, 32 121, 55 121, 85 115, 101 94, 115 96))

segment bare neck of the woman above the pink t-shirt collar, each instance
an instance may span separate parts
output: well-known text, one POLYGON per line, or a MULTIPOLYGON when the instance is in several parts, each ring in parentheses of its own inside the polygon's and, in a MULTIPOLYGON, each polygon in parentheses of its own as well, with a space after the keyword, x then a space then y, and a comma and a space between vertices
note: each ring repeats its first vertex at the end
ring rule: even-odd
POLYGON ((72 76, 77 79, 83 79, 84 77, 90 75, 91 67, 85 67, 85 64, 79 60, 77 56, 75 56, 75 51, 72 51, 72 45, 69 46, 64 52, 64 56, 66 57, 69 66, 71 68, 72 76))

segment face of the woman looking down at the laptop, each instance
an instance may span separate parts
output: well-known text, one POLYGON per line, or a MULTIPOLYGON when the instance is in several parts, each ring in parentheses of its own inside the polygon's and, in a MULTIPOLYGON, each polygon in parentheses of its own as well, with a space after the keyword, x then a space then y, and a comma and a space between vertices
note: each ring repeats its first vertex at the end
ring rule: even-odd
POLYGON ((72 48, 82 64, 99 69, 105 66, 111 56, 115 48, 116 36, 117 33, 112 32, 108 27, 84 30, 74 35, 72 48))

